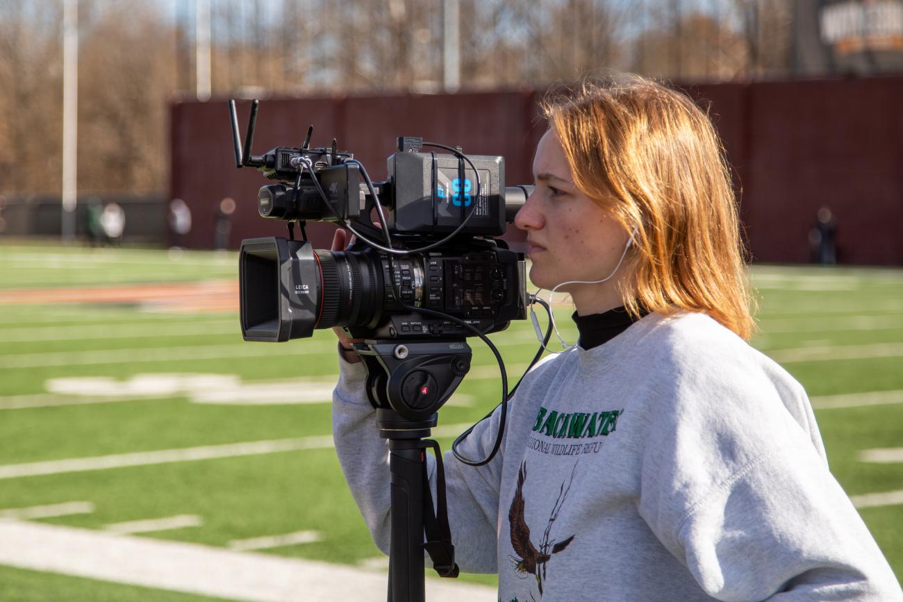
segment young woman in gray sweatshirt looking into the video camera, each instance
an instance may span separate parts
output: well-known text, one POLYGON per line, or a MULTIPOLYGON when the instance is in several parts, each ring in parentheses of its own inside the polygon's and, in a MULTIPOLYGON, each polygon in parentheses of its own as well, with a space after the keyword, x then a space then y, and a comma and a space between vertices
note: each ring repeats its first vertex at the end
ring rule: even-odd
MULTIPOLYGON (((446 455, 461 570, 498 571, 505 602, 903 598, 803 387, 746 342, 735 199, 707 116, 637 77, 544 108, 516 224, 532 281, 570 294, 580 339, 526 375, 489 465, 446 455)), ((362 365, 342 357, 336 449, 385 551, 386 442, 362 365)), ((498 412, 465 455, 485 457, 497 426, 498 412)))

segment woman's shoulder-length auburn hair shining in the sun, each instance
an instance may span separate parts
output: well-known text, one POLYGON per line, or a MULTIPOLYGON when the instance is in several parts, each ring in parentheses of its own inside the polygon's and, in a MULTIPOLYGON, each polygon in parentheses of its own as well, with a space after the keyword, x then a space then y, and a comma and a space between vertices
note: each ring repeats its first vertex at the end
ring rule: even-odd
POLYGON ((755 329, 737 200, 718 134, 693 100, 649 79, 583 79, 542 103, 577 188, 636 232, 625 307, 702 311, 755 329))

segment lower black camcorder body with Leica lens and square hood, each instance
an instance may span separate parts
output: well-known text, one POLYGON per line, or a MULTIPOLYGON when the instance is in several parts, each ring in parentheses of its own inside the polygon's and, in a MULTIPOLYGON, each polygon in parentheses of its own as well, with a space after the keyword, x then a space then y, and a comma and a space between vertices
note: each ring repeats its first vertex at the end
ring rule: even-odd
POLYGON ((334 326, 352 338, 413 340, 487 334, 526 313, 522 257, 479 240, 390 258, 365 243, 347 251, 315 250, 282 237, 242 241, 241 327, 245 340, 311 337, 334 326))

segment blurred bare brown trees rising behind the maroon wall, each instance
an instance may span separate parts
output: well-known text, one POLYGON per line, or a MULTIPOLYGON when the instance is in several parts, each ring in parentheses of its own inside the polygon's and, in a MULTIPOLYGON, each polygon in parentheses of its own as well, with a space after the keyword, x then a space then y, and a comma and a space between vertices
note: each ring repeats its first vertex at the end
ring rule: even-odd
MULTIPOLYGON (((210 0, 215 97, 433 92, 444 0, 210 0)), ((461 89, 599 69, 781 76, 787 0, 460 0, 461 89)), ((79 0, 79 190, 161 192, 168 101, 194 87, 191 5, 79 0)), ((61 3, 0 0, 0 193, 61 187, 61 3)))

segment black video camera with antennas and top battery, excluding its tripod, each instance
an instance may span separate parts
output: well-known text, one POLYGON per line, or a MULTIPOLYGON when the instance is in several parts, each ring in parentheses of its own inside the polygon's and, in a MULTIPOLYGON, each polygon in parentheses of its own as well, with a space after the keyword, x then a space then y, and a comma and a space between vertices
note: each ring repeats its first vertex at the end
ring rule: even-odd
POLYGON ((229 109, 237 167, 276 181, 260 189, 260 215, 289 222, 290 234, 295 222, 303 232, 305 221, 330 221, 356 236, 346 251, 314 250, 292 236, 243 240, 246 340, 305 338, 333 326, 352 338, 462 340, 470 328, 486 334, 526 317, 523 255, 492 238, 530 189, 505 187, 504 158, 399 137, 386 181, 373 182, 334 139, 311 148, 312 126, 300 147, 252 154, 257 101, 244 148, 232 100, 229 109))

